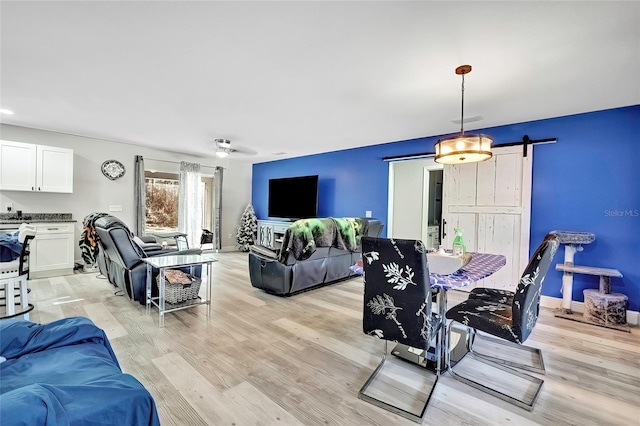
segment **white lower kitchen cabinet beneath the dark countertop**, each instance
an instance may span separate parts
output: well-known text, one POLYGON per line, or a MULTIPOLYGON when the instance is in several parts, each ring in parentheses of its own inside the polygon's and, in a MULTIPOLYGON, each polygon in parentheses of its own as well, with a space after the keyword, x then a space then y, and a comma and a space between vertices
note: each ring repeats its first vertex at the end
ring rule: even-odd
POLYGON ((36 236, 29 245, 30 278, 43 278, 73 273, 73 223, 34 223, 36 236))

